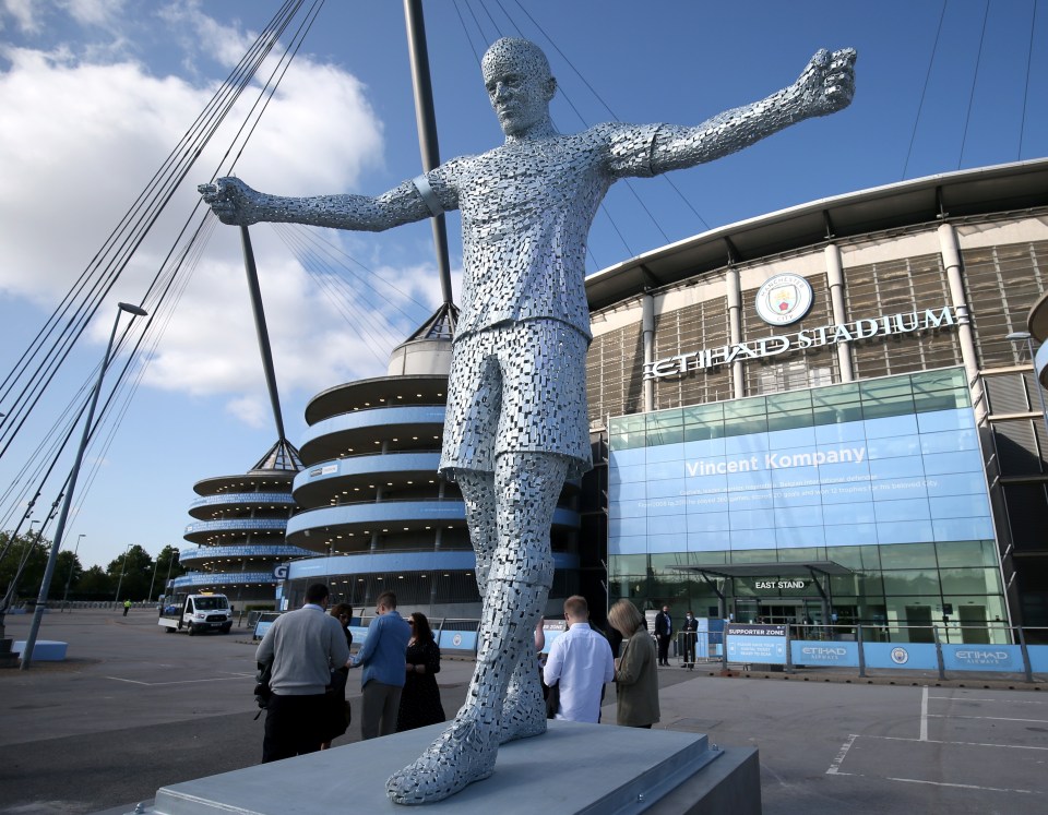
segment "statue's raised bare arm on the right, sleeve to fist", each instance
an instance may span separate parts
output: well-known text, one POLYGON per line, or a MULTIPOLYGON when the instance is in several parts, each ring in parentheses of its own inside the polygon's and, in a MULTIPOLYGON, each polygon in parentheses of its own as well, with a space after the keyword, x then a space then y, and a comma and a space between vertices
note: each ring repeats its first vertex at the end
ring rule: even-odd
POLYGON ((652 171, 712 161, 796 122, 843 110, 855 94, 855 58, 851 48, 821 50, 793 85, 766 99, 728 110, 696 128, 660 127, 652 145, 652 171))

